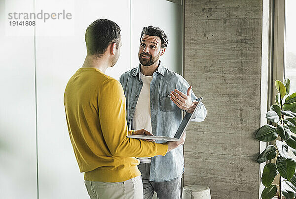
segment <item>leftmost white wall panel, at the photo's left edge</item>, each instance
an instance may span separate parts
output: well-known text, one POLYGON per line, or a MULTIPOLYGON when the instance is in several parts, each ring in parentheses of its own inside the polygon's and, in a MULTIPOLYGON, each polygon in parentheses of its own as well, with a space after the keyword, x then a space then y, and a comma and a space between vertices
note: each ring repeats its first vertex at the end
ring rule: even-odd
POLYGON ((34 29, 9 26, 19 11, 33 0, 0 1, 1 199, 37 199, 34 29))

